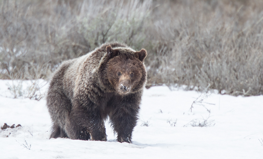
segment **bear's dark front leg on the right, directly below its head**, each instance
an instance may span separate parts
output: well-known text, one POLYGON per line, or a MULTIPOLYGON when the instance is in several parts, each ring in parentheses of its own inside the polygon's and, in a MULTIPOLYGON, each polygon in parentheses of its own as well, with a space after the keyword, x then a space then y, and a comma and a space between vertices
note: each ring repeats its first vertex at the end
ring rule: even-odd
POLYGON ((139 95, 133 94, 117 97, 112 103, 113 109, 109 117, 114 132, 118 134, 118 142, 132 143, 132 132, 137 124, 140 99, 139 95))

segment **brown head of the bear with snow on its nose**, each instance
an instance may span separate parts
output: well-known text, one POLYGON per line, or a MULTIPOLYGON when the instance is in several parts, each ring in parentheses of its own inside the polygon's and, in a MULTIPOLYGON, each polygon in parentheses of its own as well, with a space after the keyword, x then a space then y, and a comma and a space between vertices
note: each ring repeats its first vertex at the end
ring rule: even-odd
POLYGON ((144 59, 147 51, 134 51, 130 48, 106 47, 106 77, 119 95, 138 92, 144 88, 147 73, 144 59))

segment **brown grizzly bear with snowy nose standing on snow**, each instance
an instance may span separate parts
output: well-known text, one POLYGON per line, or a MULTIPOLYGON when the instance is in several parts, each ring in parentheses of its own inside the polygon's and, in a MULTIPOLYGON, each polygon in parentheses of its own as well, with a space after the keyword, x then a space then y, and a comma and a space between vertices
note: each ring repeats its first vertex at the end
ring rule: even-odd
POLYGON ((131 143, 147 81, 147 51, 124 43, 104 43, 81 57, 64 61, 47 94, 50 138, 106 141, 104 120, 118 142, 131 143))

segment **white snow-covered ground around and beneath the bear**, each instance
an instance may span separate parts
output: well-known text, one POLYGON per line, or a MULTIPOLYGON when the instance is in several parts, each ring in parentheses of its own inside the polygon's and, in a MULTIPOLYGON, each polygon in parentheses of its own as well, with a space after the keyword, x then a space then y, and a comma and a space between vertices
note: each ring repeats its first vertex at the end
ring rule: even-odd
MULTIPOLYGON (((0 125, 21 124, 22 127, 0 130, 1 159, 263 158, 262 95, 234 97, 212 93, 201 101, 197 99, 204 95, 200 92, 182 88, 171 91, 166 86, 156 86, 144 91, 132 144, 116 142, 108 122, 107 142, 49 140, 51 120, 45 98, 13 99, 8 82, 12 84, 0 80, 0 125), (191 126, 203 124, 205 119, 210 127, 191 126), (148 126, 141 126, 147 122, 148 126), (26 143, 31 145, 30 150, 21 146, 26 143)), ((47 85, 42 89, 45 91, 47 85)))

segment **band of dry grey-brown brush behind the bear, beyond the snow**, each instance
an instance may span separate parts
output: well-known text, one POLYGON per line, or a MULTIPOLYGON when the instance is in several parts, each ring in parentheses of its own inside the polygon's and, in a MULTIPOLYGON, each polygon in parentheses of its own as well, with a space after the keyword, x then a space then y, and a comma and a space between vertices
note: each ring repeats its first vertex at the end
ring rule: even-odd
POLYGON ((0 78, 49 78, 108 41, 148 52, 147 87, 263 94, 261 0, 0 1, 0 78))

